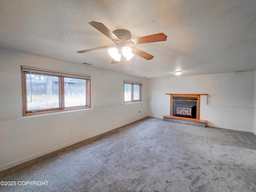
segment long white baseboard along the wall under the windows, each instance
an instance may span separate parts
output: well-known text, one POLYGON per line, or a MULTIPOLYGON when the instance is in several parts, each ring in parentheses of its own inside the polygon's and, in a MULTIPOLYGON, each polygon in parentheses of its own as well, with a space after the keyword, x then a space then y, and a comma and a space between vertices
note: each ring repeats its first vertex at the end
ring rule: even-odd
POLYGON ((14 161, 14 162, 10 162, 10 163, 8 163, 8 164, 5 164, 5 165, 3 165, 3 166, 0 166, 0 171, 4 171, 4 170, 6 170, 6 169, 9 169, 9 168, 12 168, 12 167, 14 167, 14 166, 17 166, 17 165, 19 165, 19 164, 28 162, 28 161, 33 160, 33 159, 35 159, 35 158, 38 158, 38 157, 40 157, 40 156, 44 156, 44 155, 46 155, 46 154, 49 154, 49 153, 52 153, 52 152, 54 152, 54 151, 60 150, 60 149, 62 149, 62 148, 68 147, 68 146, 70 146, 70 145, 76 144, 76 143, 81 142, 81 141, 83 141, 83 140, 92 138, 92 137, 94 137, 94 136, 97 136, 97 135, 106 133, 106 132, 108 132, 108 131, 114 130, 114 129, 116 129, 116 128, 122 127, 122 126, 127 125, 127 124, 130 124, 130 123, 132 123, 132 122, 138 121, 138 120, 143 119, 143 118, 145 118, 145 117, 147 117, 147 116, 142 116, 142 117, 140 117, 140 118, 137 118, 137 119, 134 119, 134 120, 130 120, 130 121, 124 122, 124 123, 122 123, 122 124, 116 125, 116 126, 114 126, 114 127, 108 128, 108 129, 106 129, 106 130, 102 130, 102 131, 96 132, 96 133, 94 133, 94 134, 88 135, 88 136, 86 136, 86 137, 82 137, 82 138, 76 139, 76 140, 74 140, 74 141, 67 142, 67 143, 65 143, 65 144, 56 146, 56 147, 54 147, 54 148, 50 148, 50 149, 48 149, 48 150, 44 150, 44 151, 42 151, 42 152, 39 152, 39 153, 30 155, 30 156, 28 156, 28 157, 25 157, 25 158, 16 160, 16 161, 14 161))

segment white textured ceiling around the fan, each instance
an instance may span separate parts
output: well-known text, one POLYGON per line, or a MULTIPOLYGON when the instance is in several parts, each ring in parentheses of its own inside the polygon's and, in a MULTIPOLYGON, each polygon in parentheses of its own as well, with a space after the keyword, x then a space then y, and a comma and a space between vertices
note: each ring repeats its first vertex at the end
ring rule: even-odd
POLYGON ((0 46, 146 78, 256 70, 256 1, 0 0, 0 46), (111 64, 107 49, 76 53, 113 44, 91 21, 168 38, 136 45, 152 60, 111 64))

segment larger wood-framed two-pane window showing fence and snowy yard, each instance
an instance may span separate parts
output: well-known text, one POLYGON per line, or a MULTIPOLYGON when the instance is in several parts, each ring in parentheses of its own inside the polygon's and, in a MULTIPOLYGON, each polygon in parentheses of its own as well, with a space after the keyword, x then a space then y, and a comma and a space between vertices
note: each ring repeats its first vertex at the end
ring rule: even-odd
POLYGON ((22 66, 23 115, 90 107, 90 76, 22 66))

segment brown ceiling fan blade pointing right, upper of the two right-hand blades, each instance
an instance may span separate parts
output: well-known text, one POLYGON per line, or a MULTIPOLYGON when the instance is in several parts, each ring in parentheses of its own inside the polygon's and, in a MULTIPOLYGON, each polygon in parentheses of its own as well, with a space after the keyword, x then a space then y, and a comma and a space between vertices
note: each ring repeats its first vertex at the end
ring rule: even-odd
POLYGON ((126 43, 132 44, 132 45, 138 45, 143 43, 166 41, 166 39, 167 39, 167 36, 164 33, 158 33, 158 34, 148 35, 144 37, 138 37, 135 39, 130 39, 130 40, 127 40, 126 43))

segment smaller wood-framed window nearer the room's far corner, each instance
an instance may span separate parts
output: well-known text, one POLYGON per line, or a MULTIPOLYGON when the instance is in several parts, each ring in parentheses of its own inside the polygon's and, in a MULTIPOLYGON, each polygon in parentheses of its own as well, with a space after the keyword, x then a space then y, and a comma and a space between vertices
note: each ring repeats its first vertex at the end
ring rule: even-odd
POLYGON ((142 83, 124 81, 124 102, 142 101, 142 83))

